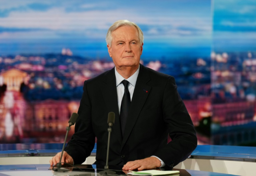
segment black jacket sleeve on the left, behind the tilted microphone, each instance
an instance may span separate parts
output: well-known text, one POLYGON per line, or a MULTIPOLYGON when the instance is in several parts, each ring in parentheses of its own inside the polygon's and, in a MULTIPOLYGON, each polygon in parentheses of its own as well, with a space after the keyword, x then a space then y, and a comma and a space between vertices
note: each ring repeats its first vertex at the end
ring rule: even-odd
POLYGON ((75 133, 65 147, 65 151, 73 158, 74 164, 82 164, 95 145, 95 134, 92 129, 91 101, 84 83, 83 96, 78 109, 78 119, 75 123, 75 133))

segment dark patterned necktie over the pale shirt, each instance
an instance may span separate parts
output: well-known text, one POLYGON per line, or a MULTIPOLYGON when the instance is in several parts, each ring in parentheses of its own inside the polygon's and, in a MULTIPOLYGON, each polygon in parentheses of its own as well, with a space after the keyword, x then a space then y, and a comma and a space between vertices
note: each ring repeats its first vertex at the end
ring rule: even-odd
POLYGON ((121 109, 120 109, 120 123, 121 123, 122 135, 124 136, 125 124, 126 124, 128 112, 130 109, 130 104, 131 104, 131 97, 128 90, 129 82, 124 80, 122 81, 122 83, 124 85, 124 96, 122 99, 121 109))

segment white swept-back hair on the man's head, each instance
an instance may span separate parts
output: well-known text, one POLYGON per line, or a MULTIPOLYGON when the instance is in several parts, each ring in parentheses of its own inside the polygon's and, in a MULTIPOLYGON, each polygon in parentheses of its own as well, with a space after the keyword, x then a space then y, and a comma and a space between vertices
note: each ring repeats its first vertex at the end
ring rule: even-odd
POLYGON ((110 28, 107 31, 107 35, 106 35, 107 45, 109 45, 111 47, 111 43, 113 40, 112 32, 117 30, 121 26, 134 26, 138 30, 139 43, 140 43, 140 45, 142 45, 144 37, 143 37, 143 33, 142 33, 141 29, 138 27, 138 25, 136 25, 135 23, 128 21, 126 19, 118 20, 112 26, 110 26, 110 28))

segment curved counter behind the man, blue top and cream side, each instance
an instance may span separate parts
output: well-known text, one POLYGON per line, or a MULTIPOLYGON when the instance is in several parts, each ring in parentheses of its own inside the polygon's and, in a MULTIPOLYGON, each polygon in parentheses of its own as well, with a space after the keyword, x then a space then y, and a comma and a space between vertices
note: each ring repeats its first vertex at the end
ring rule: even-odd
MULTIPOLYGON (((83 164, 95 162, 96 145, 83 164)), ((61 143, 0 144, 0 165, 49 164, 49 160, 61 151, 62 146, 61 143)), ((174 168, 255 176, 256 147, 198 145, 187 160, 174 168)))

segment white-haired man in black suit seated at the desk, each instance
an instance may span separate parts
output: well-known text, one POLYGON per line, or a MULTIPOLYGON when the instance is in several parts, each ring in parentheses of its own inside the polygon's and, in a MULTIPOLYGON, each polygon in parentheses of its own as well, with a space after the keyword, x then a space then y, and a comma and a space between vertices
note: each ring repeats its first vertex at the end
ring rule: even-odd
MULTIPOLYGON (((143 170, 186 160, 197 145, 196 133, 172 76, 139 63, 143 33, 128 21, 116 21, 106 36, 116 67, 85 81, 75 133, 61 162, 81 164, 90 156, 97 137, 95 164, 105 165, 107 114, 114 112, 109 165, 143 170), (167 143, 168 135, 172 139, 167 143)), ((55 165, 58 153, 50 161, 55 165)))

